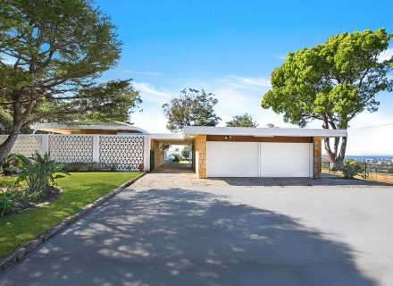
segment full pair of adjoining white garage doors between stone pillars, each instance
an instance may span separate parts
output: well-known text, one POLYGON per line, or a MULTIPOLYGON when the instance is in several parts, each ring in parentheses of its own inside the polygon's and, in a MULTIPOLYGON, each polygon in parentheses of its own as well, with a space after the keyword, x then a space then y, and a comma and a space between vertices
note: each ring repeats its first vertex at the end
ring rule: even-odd
POLYGON ((310 143, 206 142, 207 177, 312 177, 310 143))

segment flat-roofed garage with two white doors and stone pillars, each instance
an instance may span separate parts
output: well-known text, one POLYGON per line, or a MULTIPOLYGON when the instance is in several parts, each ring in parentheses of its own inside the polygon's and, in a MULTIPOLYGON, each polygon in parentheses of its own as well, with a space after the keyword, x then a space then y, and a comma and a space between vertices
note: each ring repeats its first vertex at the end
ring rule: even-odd
POLYGON ((311 177, 322 172, 322 139, 347 130, 187 126, 198 178, 311 177))

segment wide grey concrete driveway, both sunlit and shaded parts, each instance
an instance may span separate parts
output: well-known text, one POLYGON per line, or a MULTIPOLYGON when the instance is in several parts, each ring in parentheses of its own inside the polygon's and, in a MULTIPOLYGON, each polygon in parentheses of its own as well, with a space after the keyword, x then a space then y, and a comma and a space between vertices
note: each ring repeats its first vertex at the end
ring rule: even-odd
POLYGON ((393 188, 148 187, 160 178, 147 174, 0 285, 393 285, 393 188))

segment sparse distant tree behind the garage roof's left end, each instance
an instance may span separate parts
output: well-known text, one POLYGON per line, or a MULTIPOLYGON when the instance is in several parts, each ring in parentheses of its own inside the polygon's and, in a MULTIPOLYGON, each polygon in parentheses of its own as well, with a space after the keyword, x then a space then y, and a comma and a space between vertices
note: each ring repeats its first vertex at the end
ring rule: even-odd
POLYGON ((168 119, 166 128, 179 132, 184 126, 216 126, 221 121, 214 112, 217 102, 217 98, 204 89, 181 90, 178 97, 173 97, 170 103, 163 105, 163 114, 168 119))

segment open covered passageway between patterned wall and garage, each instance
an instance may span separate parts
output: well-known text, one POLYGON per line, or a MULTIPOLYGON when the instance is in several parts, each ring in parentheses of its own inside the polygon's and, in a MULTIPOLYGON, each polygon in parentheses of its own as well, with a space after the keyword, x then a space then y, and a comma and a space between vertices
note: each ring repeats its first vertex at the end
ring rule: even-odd
POLYGON ((194 172, 192 142, 165 142, 152 140, 151 172, 194 172))

